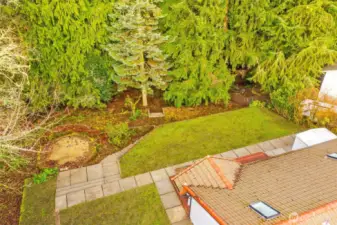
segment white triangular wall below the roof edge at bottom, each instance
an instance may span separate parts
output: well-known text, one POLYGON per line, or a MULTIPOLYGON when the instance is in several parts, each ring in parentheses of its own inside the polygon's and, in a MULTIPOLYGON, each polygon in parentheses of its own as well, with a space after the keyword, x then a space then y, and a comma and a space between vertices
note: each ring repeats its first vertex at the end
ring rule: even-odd
POLYGON ((190 218, 193 225, 219 225, 215 219, 192 198, 190 218))

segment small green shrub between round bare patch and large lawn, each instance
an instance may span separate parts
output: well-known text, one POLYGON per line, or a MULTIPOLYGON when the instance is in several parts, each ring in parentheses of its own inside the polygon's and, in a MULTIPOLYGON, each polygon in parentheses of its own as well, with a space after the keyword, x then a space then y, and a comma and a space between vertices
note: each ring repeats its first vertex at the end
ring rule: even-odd
POLYGON ((117 125, 108 124, 105 130, 109 136, 109 142, 117 146, 122 146, 128 142, 133 133, 133 131, 129 129, 127 123, 120 123, 117 125))

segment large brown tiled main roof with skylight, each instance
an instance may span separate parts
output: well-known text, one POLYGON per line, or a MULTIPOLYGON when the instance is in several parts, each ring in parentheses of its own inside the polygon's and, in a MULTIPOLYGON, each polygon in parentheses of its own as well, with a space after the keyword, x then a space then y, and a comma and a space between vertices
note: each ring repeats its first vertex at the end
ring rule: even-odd
MULTIPOLYGON (((228 225, 277 224, 293 213, 313 212, 337 201, 337 160, 326 157, 333 152, 337 152, 337 140, 243 164, 233 190, 192 183, 189 188, 228 225), (249 208, 256 201, 269 204, 280 215, 263 219, 249 208)), ((297 224, 316 225, 329 219, 337 224, 337 206, 325 209, 297 224)))

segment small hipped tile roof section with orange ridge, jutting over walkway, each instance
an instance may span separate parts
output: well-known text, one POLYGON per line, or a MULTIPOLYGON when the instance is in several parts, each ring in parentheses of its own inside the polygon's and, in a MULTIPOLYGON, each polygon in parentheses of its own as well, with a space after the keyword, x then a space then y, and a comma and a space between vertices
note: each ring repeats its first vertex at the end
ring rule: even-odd
POLYGON ((241 164, 220 157, 207 156, 172 178, 179 189, 182 185, 232 189, 241 164))

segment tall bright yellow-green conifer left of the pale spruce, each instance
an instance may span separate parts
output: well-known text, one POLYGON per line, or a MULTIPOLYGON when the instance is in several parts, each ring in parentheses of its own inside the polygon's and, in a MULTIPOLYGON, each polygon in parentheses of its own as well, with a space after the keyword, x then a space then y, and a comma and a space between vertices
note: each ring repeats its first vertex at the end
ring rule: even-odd
POLYGON ((35 109, 55 99, 74 107, 100 105, 100 90, 85 63, 87 54, 105 41, 109 10, 111 3, 99 0, 23 1, 24 38, 36 58, 27 88, 35 109))

